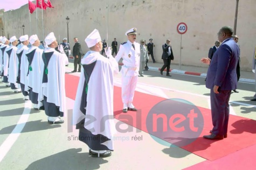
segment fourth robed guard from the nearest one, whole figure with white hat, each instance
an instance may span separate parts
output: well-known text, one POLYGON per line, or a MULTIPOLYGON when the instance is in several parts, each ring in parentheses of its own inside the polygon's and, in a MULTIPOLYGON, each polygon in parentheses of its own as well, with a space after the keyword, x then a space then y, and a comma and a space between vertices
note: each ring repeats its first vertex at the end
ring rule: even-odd
POLYGON ((21 43, 17 50, 17 56, 19 61, 17 83, 20 84, 24 99, 29 100, 29 94, 27 93, 27 91, 25 91, 25 86, 27 87, 27 67, 29 65, 26 56, 27 50, 29 50, 29 48, 27 47, 27 45, 29 44, 29 36, 22 35, 20 36, 19 41, 21 43))

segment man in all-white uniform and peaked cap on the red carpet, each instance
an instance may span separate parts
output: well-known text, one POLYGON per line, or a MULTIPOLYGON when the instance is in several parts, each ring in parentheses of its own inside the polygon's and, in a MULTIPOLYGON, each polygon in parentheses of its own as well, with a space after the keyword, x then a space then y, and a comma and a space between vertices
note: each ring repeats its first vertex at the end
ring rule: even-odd
POLYGON ((119 62, 123 58, 121 69, 122 74, 122 102, 123 113, 128 110, 137 111, 133 105, 133 98, 140 69, 140 44, 135 42, 136 28, 126 32, 128 41, 121 43, 115 60, 119 62))

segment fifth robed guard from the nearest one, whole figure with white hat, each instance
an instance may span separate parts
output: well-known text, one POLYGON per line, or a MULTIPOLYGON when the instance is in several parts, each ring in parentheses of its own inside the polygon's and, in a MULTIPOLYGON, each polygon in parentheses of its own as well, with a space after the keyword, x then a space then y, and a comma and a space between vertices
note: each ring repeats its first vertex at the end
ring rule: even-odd
POLYGON ((18 40, 16 36, 10 38, 11 46, 6 51, 9 55, 9 73, 8 73, 8 82, 11 85, 13 92, 21 92, 20 85, 17 82, 18 75, 18 57, 17 57, 17 44, 18 40))

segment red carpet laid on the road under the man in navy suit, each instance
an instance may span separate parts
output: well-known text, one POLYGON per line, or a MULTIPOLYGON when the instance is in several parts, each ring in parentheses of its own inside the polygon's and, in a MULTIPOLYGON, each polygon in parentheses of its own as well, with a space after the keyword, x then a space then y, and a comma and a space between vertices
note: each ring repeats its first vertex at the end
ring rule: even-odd
MULTIPOLYGON (((79 77, 66 74, 66 96, 71 99, 75 99, 75 93, 77 91, 77 84, 79 82, 79 77)), ((138 112, 128 112, 127 114, 122 113, 122 101, 121 101, 121 88, 114 87, 114 115, 117 120, 125 122, 127 124, 148 132, 147 130, 147 116, 149 110, 165 99, 156 97, 154 95, 135 92, 134 105, 137 107, 138 112)), ((175 110, 183 110, 190 105, 182 104, 181 102, 176 102, 177 107, 175 110), (178 107, 183 106, 183 107, 178 107)), ((202 133, 196 138, 184 138, 179 137, 176 134, 157 134, 158 138, 163 139, 169 143, 175 144, 183 149, 197 154, 208 160, 216 160, 234 153, 238 150, 244 149, 248 146, 256 144, 256 121, 246 119, 244 117, 230 115, 229 121, 229 132, 227 138, 221 141, 211 141, 203 139, 203 135, 208 135, 209 130, 212 129, 211 123, 211 112, 209 109, 197 107, 203 114, 202 133), (190 143, 192 139, 192 143, 190 143), (188 145, 184 143, 189 142, 188 145)), ((176 111, 175 111, 176 112, 176 111)), ((157 122, 158 124, 158 122, 157 122)), ((154 126, 154 124, 152 125, 154 126)), ((188 134, 189 135, 189 134, 188 134)))

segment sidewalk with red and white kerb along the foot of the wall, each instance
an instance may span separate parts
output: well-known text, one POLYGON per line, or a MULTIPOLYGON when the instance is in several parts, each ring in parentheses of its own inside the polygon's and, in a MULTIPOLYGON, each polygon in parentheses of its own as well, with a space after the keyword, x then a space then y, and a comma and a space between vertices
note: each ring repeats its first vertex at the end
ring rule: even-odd
MULTIPOLYGON (((120 63, 119 63, 120 64, 120 63)), ((163 66, 163 63, 153 63, 149 62, 148 67, 149 70, 160 70, 163 66)), ((181 65, 181 69, 179 69, 179 64, 171 64, 170 72, 172 73, 181 73, 185 75, 195 75, 206 77, 208 67, 202 66, 191 66, 191 65, 181 65)), ((240 79, 239 82, 246 83, 255 83, 254 73, 248 71, 240 71, 240 79)))

